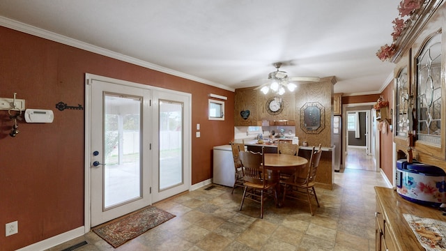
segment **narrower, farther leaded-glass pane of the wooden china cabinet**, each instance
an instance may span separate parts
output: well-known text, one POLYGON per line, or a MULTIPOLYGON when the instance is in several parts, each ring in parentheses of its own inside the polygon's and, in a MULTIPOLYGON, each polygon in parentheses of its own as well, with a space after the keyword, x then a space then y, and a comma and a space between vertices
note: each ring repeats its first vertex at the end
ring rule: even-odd
POLYGON ((409 130, 409 119, 408 119, 408 78, 407 78, 407 67, 399 73, 397 79, 397 136, 406 136, 409 130))

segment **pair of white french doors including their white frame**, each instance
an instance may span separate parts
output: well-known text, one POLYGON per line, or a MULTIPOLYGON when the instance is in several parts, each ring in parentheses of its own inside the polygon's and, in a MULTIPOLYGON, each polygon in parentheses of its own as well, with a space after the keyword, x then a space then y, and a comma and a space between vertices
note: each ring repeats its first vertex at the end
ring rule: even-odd
POLYGON ((191 97, 86 74, 86 231, 189 190, 191 97))

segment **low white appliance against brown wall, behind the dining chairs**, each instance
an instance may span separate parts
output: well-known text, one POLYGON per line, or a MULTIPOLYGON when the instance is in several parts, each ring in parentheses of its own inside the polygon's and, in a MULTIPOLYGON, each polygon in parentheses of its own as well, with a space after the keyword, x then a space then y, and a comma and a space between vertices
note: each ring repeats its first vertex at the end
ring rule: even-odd
MULTIPOLYGON (((246 151, 246 146, 245 146, 246 151)), ((231 145, 214 146, 213 183, 233 187, 236 167, 232 156, 231 145)))

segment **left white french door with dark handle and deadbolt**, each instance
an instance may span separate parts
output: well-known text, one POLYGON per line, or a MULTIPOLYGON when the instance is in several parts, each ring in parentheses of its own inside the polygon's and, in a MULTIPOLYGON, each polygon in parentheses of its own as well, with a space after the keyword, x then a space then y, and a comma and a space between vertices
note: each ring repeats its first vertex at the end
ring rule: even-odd
POLYGON ((151 204, 151 91, 89 84, 93 227, 151 204))

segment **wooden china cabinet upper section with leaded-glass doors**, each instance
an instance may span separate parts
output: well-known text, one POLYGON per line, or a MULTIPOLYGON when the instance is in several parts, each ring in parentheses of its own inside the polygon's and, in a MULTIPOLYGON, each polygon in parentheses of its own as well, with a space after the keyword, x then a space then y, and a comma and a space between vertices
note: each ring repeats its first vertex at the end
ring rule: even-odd
POLYGON ((446 8, 443 1, 424 4, 397 40, 394 142, 397 159, 406 158, 410 149, 418 161, 446 170, 446 8))

